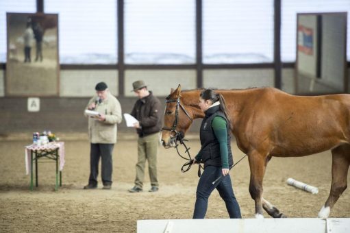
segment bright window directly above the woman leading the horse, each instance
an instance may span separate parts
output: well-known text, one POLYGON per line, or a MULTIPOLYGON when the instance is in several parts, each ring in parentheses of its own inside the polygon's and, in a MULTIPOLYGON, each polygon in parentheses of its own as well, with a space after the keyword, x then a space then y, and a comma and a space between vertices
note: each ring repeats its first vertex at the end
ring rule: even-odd
POLYGON ((273 62, 273 0, 204 0, 203 63, 273 62))

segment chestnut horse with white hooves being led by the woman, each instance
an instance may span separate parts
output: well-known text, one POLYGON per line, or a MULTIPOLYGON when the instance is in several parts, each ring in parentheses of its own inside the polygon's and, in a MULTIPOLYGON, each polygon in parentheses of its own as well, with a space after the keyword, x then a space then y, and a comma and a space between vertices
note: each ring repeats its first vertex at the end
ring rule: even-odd
MULTIPOLYGON (((201 90, 176 90, 166 97, 162 145, 175 147, 192 119, 203 118, 201 90)), ((294 96, 276 88, 216 90, 225 98, 232 133, 238 148, 247 154, 251 171, 249 193, 255 217, 263 208, 272 217, 286 217, 262 197, 262 180, 272 156, 308 156, 332 151, 332 186, 318 217, 327 218, 347 188, 350 164, 350 95, 294 96)))

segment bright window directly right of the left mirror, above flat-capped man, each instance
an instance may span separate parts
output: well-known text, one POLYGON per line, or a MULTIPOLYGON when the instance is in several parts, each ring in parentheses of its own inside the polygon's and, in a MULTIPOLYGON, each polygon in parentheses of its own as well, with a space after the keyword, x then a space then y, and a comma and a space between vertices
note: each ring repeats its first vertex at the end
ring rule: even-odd
POLYGON ((58 13, 60 63, 116 64, 116 0, 45 0, 45 13, 58 13))

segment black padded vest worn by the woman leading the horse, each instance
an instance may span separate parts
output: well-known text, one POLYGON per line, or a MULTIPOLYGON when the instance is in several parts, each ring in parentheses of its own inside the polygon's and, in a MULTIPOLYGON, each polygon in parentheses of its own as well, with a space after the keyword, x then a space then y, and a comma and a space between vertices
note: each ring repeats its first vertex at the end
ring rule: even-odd
MULTIPOLYGON (((204 167, 207 166, 215 166, 221 167, 221 154, 220 154, 220 144, 215 137, 214 130, 212 129, 212 120, 215 116, 221 116, 223 119, 227 119, 225 114, 221 112, 220 106, 214 106, 212 108, 208 108, 205 111, 205 117, 201 123, 201 131, 200 131, 200 139, 201 139, 201 162, 204 163, 204 167)), ((231 136, 229 130, 229 124, 226 125, 227 128, 227 150, 228 150, 228 162, 229 167, 234 164, 232 159, 232 151, 231 151, 231 136)))

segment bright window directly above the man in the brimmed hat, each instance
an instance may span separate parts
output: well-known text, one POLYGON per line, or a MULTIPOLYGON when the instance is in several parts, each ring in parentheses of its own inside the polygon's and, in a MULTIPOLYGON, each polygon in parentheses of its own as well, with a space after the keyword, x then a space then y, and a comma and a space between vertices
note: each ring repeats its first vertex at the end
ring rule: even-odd
POLYGON ((195 1, 125 0, 126 64, 195 63, 195 1))

